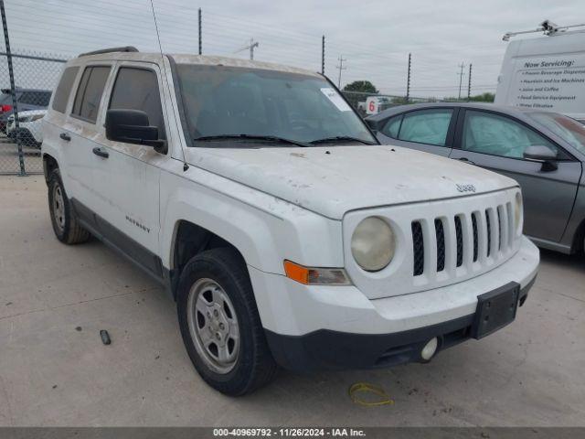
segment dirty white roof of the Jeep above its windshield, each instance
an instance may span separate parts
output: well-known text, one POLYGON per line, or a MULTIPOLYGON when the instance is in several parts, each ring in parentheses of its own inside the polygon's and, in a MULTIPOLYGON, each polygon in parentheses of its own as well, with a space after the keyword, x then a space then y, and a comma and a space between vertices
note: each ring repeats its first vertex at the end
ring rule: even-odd
MULTIPOLYGON (((177 64, 198 64, 206 66, 227 66, 239 67, 243 69, 261 69, 261 70, 277 70, 286 71, 290 73, 299 73, 314 77, 321 77, 317 72, 311 70, 300 69, 298 67, 285 66, 272 62, 264 62, 250 59, 217 57, 207 55, 193 55, 186 53, 165 54, 175 59, 177 64)), ((146 62, 160 62, 161 54, 158 52, 107 52, 95 55, 84 55, 80 58, 70 59, 68 66, 79 66, 89 62, 95 61, 146 61, 146 62)))

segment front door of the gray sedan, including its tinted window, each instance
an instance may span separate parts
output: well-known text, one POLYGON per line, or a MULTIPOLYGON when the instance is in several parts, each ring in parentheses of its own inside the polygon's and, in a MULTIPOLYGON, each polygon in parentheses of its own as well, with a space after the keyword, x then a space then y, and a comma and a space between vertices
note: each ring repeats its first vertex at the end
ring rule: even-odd
POLYGON ((522 187, 524 232, 560 241, 577 195, 580 162, 532 127, 499 112, 462 109, 456 131, 451 157, 514 178, 522 187), (530 145, 557 152, 556 169, 525 159, 530 145))

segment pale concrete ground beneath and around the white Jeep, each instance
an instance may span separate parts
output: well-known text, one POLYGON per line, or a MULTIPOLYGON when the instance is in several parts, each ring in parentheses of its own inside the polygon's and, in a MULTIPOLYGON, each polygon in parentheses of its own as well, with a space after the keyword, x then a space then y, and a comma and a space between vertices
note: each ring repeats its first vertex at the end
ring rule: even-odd
POLYGON ((583 258, 543 252, 514 324, 430 364, 282 371, 232 399, 192 368, 156 284, 98 241, 54 238, 42 177, 0 177, 0 230, 0 425, 585 425, 583 258), (394 405, 354 404, 356 381, 394 405))

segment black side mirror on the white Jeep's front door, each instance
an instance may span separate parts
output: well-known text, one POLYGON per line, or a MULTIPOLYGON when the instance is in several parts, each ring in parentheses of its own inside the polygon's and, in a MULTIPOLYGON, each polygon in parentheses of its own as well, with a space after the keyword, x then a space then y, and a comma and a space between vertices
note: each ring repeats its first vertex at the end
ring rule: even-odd
POLYGON ((158 152, 166 148, 166 141, 158 138, 158 127, 150 126, 148 115, 140 110, 108 110, 106 137, 114 142, 154 146, 158 152))

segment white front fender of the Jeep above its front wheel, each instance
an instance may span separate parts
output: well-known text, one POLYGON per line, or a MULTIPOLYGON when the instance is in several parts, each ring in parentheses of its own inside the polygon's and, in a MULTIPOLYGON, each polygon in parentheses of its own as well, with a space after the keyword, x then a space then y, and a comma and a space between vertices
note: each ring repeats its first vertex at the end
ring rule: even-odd
POLYGON ((310 266, 344 265, 341 221, 195 166, 182 176, 161 175, 160 254, 169 269, 174 268, 174 240, 181 220, 229 241, 248 265, 262 272, 283 274, 284 259, 310 266))

